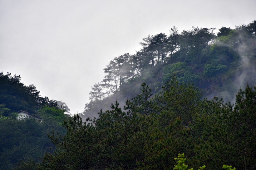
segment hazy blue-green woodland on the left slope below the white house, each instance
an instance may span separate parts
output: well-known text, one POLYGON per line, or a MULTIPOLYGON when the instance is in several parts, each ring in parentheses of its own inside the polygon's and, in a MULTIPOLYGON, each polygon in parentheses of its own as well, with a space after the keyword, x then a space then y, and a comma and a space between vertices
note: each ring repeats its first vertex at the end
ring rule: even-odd
POLYGON ((37 122, 33 118, 0 118, 0 169, 8 169, 7 164, 13 169, 20 159, 41 162, 44 152, 54 147, 47 137, 47 133, 52 130, 64 133, 62 126, 51 119, 37 122))

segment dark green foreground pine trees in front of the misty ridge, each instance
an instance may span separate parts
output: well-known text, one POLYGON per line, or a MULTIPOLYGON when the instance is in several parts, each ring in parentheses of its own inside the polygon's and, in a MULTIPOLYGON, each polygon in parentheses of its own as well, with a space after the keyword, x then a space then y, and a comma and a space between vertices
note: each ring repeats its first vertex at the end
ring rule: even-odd
POLYGON ((143 84, 141 94, 123 109, 116 102, 86 122, 74 115, 63 124, 64 136, 49 136, 54 153, 18 168, 255 169, 256 86, 239 90, 232 105, 217 97, 200 100, 201 90, 174 76, 157 97, 150 96, 143 84))

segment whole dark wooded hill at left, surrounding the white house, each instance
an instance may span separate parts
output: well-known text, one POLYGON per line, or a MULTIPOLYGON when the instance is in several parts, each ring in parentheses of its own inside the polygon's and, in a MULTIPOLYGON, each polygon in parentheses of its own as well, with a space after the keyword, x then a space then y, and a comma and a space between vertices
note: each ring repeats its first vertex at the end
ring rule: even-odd
POLYGON ((58 131, 65 134, 64 106, 57 101, 39 95, 35 85, 25 86, 20 76, 0 73, 0 169, 13 169, 20 160, 33 159, 41 162, 46 151, 54 147, 47 134, 58 131), (17 119, 17 112, 23 110, 41 117, 17 119))

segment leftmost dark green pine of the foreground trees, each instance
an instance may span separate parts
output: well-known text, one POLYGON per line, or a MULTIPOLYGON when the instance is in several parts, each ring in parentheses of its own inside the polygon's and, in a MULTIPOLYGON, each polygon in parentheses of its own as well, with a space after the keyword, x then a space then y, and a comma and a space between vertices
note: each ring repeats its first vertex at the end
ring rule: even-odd
MULTIPOLYGON (((87 119, 88 121, 88 119, 87 119)), ((88 122, 82 122, 79 115, 64 122, 66 134, 55 134, 51 131, 48 137, 56 150, 53 154, 45 153, 39 169, 89 169, 94 168, 99 161, 98 137, 95 127, 88 122)))

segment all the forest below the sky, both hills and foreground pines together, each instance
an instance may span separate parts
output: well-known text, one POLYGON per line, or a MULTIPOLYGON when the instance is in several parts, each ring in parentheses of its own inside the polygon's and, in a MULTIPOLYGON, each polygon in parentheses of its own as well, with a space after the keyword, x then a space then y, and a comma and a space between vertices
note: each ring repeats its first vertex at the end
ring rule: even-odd
POLYGON ((73 117, 1 72, 0 169, 255 169, 256 20, 140 44, 107 64, 73 117))

